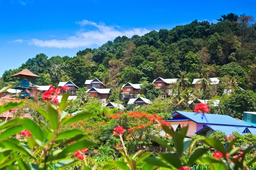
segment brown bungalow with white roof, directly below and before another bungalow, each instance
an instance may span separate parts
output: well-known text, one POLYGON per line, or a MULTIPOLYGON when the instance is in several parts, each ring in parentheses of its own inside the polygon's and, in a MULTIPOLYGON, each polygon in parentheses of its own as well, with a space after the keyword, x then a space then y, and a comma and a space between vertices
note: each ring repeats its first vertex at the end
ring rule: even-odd
POLYGON ((86 93, 89 94, 89 97, 99 97, 100 102, 106 103, 109 96, 111 95, 110 88, 91 88, 87 89, 86 93))

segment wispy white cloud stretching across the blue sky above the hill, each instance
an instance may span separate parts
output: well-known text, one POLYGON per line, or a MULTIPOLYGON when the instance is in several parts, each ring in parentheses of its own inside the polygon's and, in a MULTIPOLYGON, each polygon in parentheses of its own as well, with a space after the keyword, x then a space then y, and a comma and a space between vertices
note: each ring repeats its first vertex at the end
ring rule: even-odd
MULTIPOLYGON (((113 41, 118 36, 132 37, 133 35, 144 35, 150 30, 146 28, 130 28, 122 29, 119 26, 106 26, 105 23, 95 23, 93 21, 82 20, 76 22, 82 28, 86 26, 93 26, 95 29, 85 30, 81 29, 76 31, 75 35, 64 38, 62 40, 39 40, 33 38, 29 40, 29 45, 35 45, 38 47, 52 47, 52 48, 77 48, 77 47, 90 47, 93 45, 99 45, 113 41)), ((13 42, 26 42, 27 40, 14 40, 13 42)))

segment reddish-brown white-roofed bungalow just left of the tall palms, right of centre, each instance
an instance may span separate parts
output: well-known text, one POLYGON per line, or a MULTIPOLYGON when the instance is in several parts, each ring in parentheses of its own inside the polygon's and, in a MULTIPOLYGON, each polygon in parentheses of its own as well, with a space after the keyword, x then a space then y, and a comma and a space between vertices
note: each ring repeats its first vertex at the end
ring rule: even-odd
POLYGON ((172 91, 169 91, 169 88, 170 85, 175 82, 177 82, 177 79, 163 79, 161 77, 158 77, 153 81, 155 88, 163 91, 163 94, 166 96, 170 96, 172 94, 172 91))

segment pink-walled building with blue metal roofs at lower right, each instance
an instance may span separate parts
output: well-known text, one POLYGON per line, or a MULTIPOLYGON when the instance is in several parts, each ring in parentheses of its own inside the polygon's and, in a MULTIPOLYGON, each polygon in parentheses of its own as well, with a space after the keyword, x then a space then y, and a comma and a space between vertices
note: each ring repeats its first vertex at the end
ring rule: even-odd
POLYGON ((175 111, 172 113, 172 117, 173 119, 167 120, 167 122, 180 124, 181 127, 189 125, 187 136, 194 136, 195 134, 209 136, 213 131, 218 130, 227 135, 235 131, 246 133, 248 132, 247 127, 248 129, 251 127, 228 115, 175 111))

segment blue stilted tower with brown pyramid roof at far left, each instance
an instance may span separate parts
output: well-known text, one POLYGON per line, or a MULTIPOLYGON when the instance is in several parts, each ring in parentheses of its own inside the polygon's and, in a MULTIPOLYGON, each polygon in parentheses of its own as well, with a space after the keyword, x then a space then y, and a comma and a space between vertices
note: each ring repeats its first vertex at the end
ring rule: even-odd
POLYGON ((17 74, 12 75, 11 77, 17 77, 16 79, 16 97, 17 97, 17 90, 20 91, 19 96, 20 98, 25 97, 32 97, 30 94, 33 94, 33 89, 37 89, 37 87, 34 85, 35 79, 38 78, 38 75, 35 75, 28 69, 24 69, 23 71, 20 71, 17 74), (20 83, 18 83, 18 78, 20 80, 20 83), (26 90, 30 91, 29 94, 26 90))

